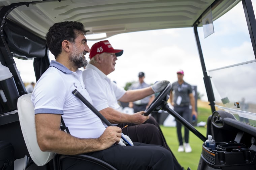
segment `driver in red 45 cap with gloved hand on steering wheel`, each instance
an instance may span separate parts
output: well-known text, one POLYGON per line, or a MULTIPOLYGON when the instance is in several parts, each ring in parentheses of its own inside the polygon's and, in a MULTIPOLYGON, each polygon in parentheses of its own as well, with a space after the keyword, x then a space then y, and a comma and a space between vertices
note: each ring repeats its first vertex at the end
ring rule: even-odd
POLYGON ((139 90, 125 91, 118 87, 107 75, 115 70, 117 57, 122 54, 123 50, 114 49, 107 40, 95 43, 91 47, 90 63, 83 71, 83 81, 93 106, 113 125, 124 127, 128 124, 122 129, 122 133, 128 135, 132 141, 162 145, 171 152, 153 117, 144 116, 144 111, 132 115, 122 113, 117 102, 136 101, 160 92, 169 81, 159 81, 151 87, 139 90))

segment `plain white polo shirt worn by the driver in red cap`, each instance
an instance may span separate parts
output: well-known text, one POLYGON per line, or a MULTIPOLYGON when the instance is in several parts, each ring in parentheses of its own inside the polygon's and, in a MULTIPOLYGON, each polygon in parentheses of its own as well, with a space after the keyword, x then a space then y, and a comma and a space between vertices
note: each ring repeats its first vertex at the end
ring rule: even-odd
POLYGON ((88 64, 83 71, 83 80, 93 101, 93 106, 98 111, 107 107, 121 111, 122 108, 117 101, 125 94, 124 88, 118 87, 92 64, 88 64))

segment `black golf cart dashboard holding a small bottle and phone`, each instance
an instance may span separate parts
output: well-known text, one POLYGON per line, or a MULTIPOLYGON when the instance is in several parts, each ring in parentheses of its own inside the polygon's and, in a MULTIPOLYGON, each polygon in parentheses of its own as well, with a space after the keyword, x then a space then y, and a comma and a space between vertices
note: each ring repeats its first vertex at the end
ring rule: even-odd
POLYGON ((215 111, 209 118, 216 147, 212 150, 204 143, 201 158, 215 168, 253 166, 256 162, 256 127, 237 121, 223 110, 215 111))

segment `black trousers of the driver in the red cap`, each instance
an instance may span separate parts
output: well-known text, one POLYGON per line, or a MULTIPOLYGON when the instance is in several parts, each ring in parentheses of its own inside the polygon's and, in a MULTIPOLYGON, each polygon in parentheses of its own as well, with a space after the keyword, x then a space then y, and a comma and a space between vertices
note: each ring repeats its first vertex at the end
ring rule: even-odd
MULTIPOLYGON (((128 135, 132 141, 144 144, 161 145, 171 152, 159 124, 152 116, 140 125, 133 123, 120 123, 117 126, 122 128, 125 125, 128 126, 122 129, 122 133, 128 135)), ((172 152, 171 154, 175 170, 182 169, 172 152)))

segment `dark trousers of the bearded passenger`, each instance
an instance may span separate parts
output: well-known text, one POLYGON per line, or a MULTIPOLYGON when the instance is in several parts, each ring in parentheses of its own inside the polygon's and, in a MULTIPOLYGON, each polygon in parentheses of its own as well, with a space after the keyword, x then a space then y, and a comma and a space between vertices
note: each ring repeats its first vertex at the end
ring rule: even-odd
MULTIPOLYGON (((134 142, 134 146, 113 145, 108 149, 86 153, 119 170, 177 170, 172 154, 162 146, 134 142)), ((100 170, 95 164, 73 158, 62 161, 63 170, 100 170)), ((179 167, 178 169, 182 169, 179 167)))

